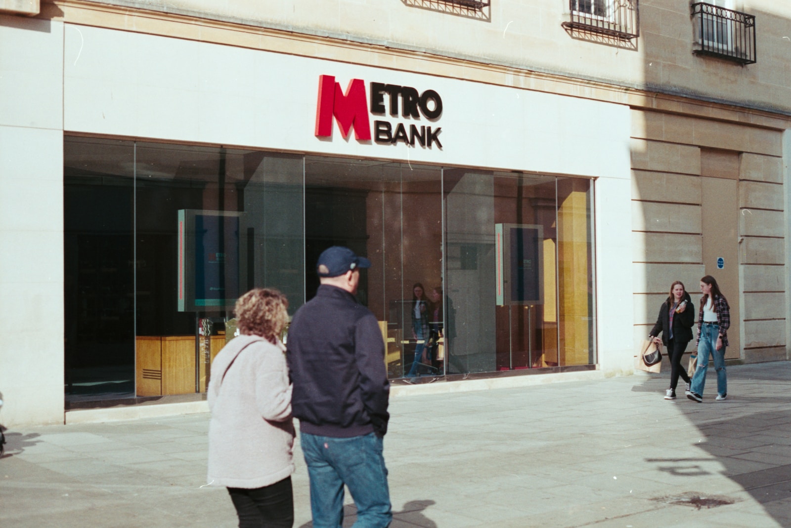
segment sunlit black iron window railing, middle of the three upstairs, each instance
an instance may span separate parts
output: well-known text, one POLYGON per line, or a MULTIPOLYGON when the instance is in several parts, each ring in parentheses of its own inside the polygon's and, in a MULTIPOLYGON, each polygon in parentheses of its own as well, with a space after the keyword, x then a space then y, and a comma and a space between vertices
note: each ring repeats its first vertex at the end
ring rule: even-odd
POLYGON ((569 0, 571 20, 564 28, 602 33, 617 39, 640 36, 638 0, 569 0))

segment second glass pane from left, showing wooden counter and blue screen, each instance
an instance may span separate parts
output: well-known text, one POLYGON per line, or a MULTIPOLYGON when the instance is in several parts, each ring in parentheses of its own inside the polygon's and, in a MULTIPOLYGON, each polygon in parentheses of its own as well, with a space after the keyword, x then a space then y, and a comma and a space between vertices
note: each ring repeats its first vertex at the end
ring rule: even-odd
POLYGON ((135 152, 137 394, 204 392, 242 293, 276 285, 291 313, 304 299, 302 160, 153 143, 135 152))

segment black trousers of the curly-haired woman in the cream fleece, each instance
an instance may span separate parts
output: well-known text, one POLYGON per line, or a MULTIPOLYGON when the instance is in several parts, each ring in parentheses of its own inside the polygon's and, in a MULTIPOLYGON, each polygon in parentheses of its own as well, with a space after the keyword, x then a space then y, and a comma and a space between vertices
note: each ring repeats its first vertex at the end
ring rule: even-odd
POLYGON ((294 500, 291 477, 263 488, 228 488, 239 528, 291 528, 294 500))

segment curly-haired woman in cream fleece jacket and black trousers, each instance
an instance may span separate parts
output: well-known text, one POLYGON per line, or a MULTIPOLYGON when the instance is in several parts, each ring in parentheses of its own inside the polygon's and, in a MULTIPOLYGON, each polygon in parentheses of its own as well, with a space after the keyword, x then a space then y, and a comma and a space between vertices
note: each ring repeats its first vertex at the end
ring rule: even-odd
POLYGON ((241 296, 240 336, 211 365, 208 482, 228 488, 240 528, 293 526, 291 383, 280 341, 288 305, 274 289, 241 296))

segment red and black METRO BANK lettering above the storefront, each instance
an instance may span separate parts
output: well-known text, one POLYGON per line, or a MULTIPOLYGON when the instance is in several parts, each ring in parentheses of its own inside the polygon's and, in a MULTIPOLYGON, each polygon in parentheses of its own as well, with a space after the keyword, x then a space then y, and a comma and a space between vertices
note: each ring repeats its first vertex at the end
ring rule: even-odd
MULTIPOLYGON (((442 115, 442 99, 437 92, 426 90, 419 93, 410 86, 387 85, 372 82, 369 85, 369 99, 366 98, 365 81, 352 79, 343 92, 339 82, 332 75, 319 76, 319 100, 316 104, 316 137, 329 138, 332 135, 332 120, 338 122, 343 138, 349 137, 354 128, 354 139, 371 141, 370 115, 389 114, 393 117, 429 119, 433 121, 442 115)), ((374 119, 373 141, 393 145, 402 141, 407 145, 431 148, 442 143, 437 137, 442 128, 426 125, 390 123, 374 119), (408 128, 407 128, 408 126, 408 128)))

